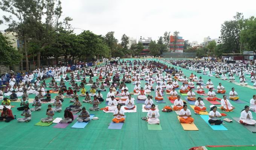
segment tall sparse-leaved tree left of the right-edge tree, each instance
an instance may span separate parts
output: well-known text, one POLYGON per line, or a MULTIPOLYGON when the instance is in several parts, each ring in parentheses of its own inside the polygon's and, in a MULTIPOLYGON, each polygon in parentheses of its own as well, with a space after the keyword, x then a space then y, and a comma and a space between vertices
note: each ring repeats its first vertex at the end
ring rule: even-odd
POLYGON ((240 33, 244 26, 244 16, 237 12, 234 20, 225 21, 221 25, 221 39, 226 47, 229 47, 230 52, 239 52, 240 49, 240 33))

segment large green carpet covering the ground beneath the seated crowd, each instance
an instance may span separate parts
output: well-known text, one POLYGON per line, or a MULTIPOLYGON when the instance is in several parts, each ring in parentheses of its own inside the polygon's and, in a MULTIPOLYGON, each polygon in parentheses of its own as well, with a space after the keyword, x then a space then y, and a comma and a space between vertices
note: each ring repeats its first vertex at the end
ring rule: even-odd
MULTIPOLYGON (((130 59, 129 60, 133 60, 130 59)), ((121 60, 122 61, 122 60, 121 60)), ((172 65, 170 65, 172 66, 172 65)), ((175 66, 176 67, 176 66, 175 66)), ((177 69, 180 69, 177 67, 177 69)), ((253 89, 247 87, 237 86, 220 79, 208 77, 203 74, 198 74, 194 71, 182 69, 185 75, 190 75, 191 72, 198 77, 202 76, 205 83, 211 78, 214 85, 217 86, 219 82, 226 88, 227 92, 235 87, 236 92, 242 101, 248 102, 247 104, 236 104, 231 102, 236 107, 235 111, 226 113, 228 118, 240 117, 240 112, 244 105, 250 105, 249 101, 255 93, 253 89)), ((165 74, 164 74, 165 75, 165 74)), ((236 77, 237 78, 237 77, 236 77)), ((93 78, 96 81, 96 78, 93 78)), ((49 83, 50 79, 46 80, 49 83)), ((87 79, 88 82, 88 79, 87 79)), ((145 81, 142 82, 144 87, 145 81)), ((181 86, 181 83, 179 83, 181 86)), ((126 84, 130 91, 133 90, 132 84, 126 84)), ((68 83, 66 83, 68 86, 68 83)), ((154 85, 156 86, 156 85, 154 85)), ((85 86, 89 90, 89 86, 85 86)), ((49 89, 49 88, 46 88, 49 89)), ((101 92, 104 99, 107 92, 101 92)), ((80 94, 80 92, 78 92, 80 94)), ((52 94, 52 98, 57 94, 52 94)), ((152 92, 155 96, 155 92, 152 92)), ((198 94, 196 94, 199 96, 198 94)), ((29 98, 34 98, 35 95, 29 95, 29 98)), ((217 95, 219 98, 222 95, 217 95)), ((136 98, 137 96, 132 96, 136 98)), ((201 96, 203 97, 203 96, 201 96)), ((185 96, 181 96, 184 99, 185 96)), ((79 97, 82 101, 84 97, 79 97)), ((165 94, 164 99, 166 103, 157 104, 159 110, 165 105, 171 105, 168 101, 168 95, 165 94)), ((155 101, 154 101, 155 102, 155 101)), ((204 101, 209 111, 210 103, 204 101)), ((68 98, 64 99, 62 103, 62 110, 72 103, 68 98)), ((12 102, 15 108, 12 108, 13 114, 17 118, 21 117, 21 111, 17 111, 20 103, 12 102)), ((212 130, 204 120, 199 116, 192 113, 194 123, 198 127, 198 131, 185 131, 177 120, 175 112, 164 113, 160 111, 160 123, 162 130, 148 130, 148 125, 141 117, 145 117, 147 113, 142 112, 143 104, 137 105, 137 113, 125 113, 126 120, 121 130, 110 130, 108 124, 113 118, 112 113, 104 113, 103 111, 89 111, 99 117, 99 120, 91 120, 85 129, 71 129, 70 127, 76 122, 73 121, 66 129, 53 128, 51 126, 34 126, 41 118, 46 117, 46 109, 48 104, 42 105, 41 111, 32 112, 32 120, 29 123, 18 123, 17 120, 12 120, 9 123, 0 122, 0 132, 2 134, 0 149, 1 150, 155 150, 155 149, 172 149, 172 150, 188 150, 191 147, 203 145, 252 145, 255 144, 255 134, 251 133, 240 124, 226 123, 227 131, 212 130), (5 137, 5 138, 3 138, 5 137)), ((87 109, 91 104, 82 103, 87 109)), ((105 107, 105 102, 99 105, 100 108, 105 107)), ((31 107, 31 104, 30 104, 31 107)), ((188 107, 191 112, 192 108, 188 107)), ((220 111, 220 110, 218 110, 220 111)), ((64 117, 64 111, 55 113, 54 117, 64 117)), ((255 118, 255 114, 253 113, 255 118)), ((230 148, 229 148, 230 149, 230 148)))

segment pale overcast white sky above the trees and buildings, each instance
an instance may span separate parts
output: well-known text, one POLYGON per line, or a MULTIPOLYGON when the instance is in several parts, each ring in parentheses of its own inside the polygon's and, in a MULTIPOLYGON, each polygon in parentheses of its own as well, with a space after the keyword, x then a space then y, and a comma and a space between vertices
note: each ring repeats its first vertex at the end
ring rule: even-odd
MULTIPOLYGON (((221 24, 236 12, 245 18, 256 16, 254 0, 61 0, 63 17, 71 17, 75 33, 90 30, 105 35, 114 31, 139 39, 157 40, 165 31, 175 30, 190 42, 220 35, 221 24)), ((3 14, 0 11, 0 15, 3 14)), ((1 15, 2 16, 2 15, 1 15)), ((1 25, 0 30, 6 26, 1 25)))

